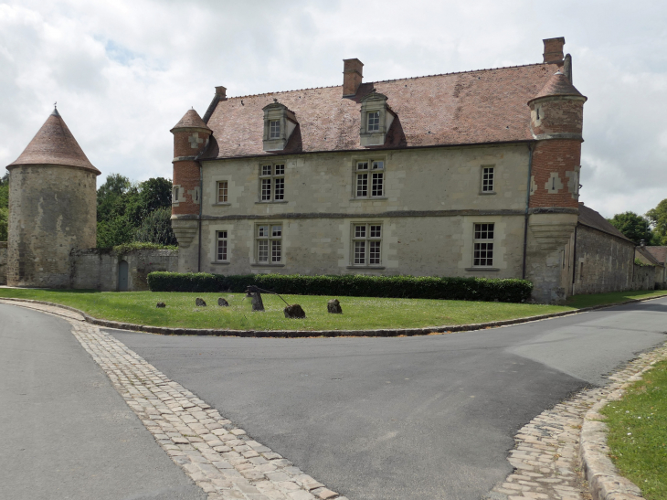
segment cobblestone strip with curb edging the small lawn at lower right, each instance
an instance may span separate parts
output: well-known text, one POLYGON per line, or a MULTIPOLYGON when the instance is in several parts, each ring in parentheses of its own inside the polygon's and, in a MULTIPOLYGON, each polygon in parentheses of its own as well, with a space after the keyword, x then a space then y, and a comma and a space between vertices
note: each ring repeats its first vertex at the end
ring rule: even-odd
POLYGON ((507 458, 513 473, 485 498, 641 500, 639 488, 620 477, 609 460, 607 425, 598 410, 661 359, 667 359, 667 343, 619 369, 608 386, 583 390, 524 425, 507 458))

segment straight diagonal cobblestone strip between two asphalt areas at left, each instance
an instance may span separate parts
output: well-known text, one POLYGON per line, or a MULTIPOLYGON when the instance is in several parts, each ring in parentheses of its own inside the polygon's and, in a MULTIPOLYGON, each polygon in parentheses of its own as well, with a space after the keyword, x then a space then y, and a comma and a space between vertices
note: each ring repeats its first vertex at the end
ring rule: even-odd
POLYGON ((68 317, 81 346, 208 500, 347 500, 253 440, 97 326, 61 314, 58 307, 22 305, 68 317))

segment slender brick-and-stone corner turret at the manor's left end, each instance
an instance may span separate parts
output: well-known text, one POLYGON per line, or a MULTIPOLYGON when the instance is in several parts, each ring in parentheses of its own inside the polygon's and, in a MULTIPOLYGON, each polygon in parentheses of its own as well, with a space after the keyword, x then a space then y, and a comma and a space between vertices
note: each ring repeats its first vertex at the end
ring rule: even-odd
POLYGON ((178 239, 179 271, 197 269, 198 245, 191 245, 199 229, 201 206, 201 171, 196 158, 206 149, 212 132, 195 110, 186 112, 171 130, 174 134, 172 229, 178 239))

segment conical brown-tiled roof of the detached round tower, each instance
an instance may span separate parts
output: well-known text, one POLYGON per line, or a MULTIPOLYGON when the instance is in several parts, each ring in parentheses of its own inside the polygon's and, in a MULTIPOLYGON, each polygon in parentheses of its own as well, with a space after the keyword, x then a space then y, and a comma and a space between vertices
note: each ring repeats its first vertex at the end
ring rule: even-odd
POLYGON ((26 149, 7 168, 18 165, 68 165, 84 168, 100 175, 83 153, 65 121, 54 109, 26 149))

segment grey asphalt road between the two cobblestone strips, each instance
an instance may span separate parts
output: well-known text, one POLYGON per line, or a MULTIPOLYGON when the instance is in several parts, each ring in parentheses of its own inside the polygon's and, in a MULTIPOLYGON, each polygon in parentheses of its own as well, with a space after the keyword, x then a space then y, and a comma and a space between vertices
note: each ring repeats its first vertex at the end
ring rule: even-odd
POLYGON ((422 337, 107 331, 351 499, 478 500, 526 422, 667 340, 667 299, 422 337))

